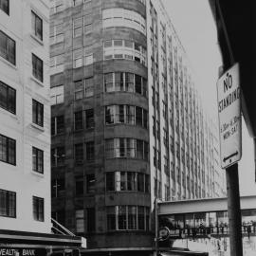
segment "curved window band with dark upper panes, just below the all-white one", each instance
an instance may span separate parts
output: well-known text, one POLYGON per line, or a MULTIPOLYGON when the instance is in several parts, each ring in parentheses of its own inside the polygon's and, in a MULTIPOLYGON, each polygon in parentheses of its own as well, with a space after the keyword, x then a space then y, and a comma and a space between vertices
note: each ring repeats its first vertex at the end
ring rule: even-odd
POLYGON ((126 59, 147 65, 147 50, 133 41, 104 41, 104 60, 126 59))

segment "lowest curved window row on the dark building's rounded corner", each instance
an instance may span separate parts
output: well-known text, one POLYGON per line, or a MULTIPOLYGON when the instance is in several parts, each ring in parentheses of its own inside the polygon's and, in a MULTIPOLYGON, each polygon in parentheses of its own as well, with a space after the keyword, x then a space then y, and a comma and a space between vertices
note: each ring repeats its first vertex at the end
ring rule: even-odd
POLYGON ((106 212, 108 230, 149 230, 148 207, 111 206, 106 212))

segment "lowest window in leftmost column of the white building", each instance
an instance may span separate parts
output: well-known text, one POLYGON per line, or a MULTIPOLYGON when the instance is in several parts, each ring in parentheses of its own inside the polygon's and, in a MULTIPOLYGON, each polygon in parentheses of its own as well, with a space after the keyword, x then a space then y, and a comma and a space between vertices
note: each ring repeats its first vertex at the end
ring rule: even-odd
POLYGON ((0 190, 0 216, 16 218, 16 192, 0 190))

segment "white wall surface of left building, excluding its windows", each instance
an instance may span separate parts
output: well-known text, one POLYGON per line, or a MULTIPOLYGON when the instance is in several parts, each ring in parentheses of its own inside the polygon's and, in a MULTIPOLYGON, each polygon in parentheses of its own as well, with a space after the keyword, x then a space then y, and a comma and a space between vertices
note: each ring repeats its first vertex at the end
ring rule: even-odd
POLYGON ((0 80, 16 89, 16 115, 0 108, 0 134, 16 140, 16 166, 0 162, 0 189, 16 192, 16 218, 1 217, 1 229, 50 232, 49 1, 9 1, 0 29, 16 42, 16 66, 0 57, 0 80), (43 43, 31 36, 31 9, 43 19, 43 43), (31 53, 44 61, 44 82, 32 79, 31 53), (44 104, 44 129, 32 122, 32 99, 44 104), (44 174, 32 171, 32 146, 44 151, 44 174), (45 222, 33 220, 32 196, 45 198, 45 222))

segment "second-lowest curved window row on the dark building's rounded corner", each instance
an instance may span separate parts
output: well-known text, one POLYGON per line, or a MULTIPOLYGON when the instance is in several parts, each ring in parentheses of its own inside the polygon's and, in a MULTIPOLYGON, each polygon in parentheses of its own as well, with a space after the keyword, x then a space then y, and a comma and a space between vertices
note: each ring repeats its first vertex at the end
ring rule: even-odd
POLYGON ((112 172, 106 174, 107 192, 150 192, 150 176, 136 172, 112 172))

